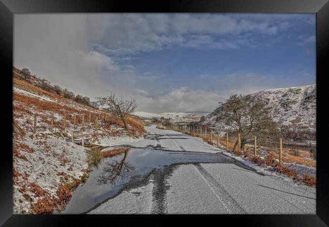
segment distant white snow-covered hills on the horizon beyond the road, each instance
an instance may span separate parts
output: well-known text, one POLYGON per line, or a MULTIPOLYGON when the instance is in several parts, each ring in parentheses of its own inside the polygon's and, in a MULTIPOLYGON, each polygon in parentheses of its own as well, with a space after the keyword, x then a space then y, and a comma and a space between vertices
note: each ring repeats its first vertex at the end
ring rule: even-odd
POLYGON ((171 118, 173 123, 177 122, 198 122, 202 116, 209 115, 210 112, 161 112, 161 113, 152 113, 152 112, 142 112, 136 111, 134 115, 140 117, 143 120, 150 121, 152 118, 171 118))

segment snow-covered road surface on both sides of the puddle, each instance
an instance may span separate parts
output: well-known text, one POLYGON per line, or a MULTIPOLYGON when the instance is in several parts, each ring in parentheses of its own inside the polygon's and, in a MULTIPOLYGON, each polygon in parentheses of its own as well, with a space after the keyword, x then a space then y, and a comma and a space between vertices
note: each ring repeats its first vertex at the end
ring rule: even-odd
MULTIPOLYGON (((145 139, 129 145, 179 153, 219 152, 200 138, 154 126, 147 130, 145 139)), ((143 184, 127 188, 89 213, 315 214, 314 188, 280 176, 263 176, 218 156, 224 161, 187 161, 158 168, 143 184)))

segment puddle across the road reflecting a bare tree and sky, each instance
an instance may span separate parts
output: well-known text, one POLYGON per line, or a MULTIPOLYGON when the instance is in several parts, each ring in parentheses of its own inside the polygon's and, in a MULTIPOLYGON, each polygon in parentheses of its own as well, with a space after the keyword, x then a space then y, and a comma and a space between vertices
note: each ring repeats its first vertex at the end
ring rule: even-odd
POLYGON ((231 158, 219 154, 131 148, 127 153, 104 158, 98 168, 92 167, 93 172, 90 173, 87 182, 72 192, 71 200, 61 213, 83 213, 115 195, 134 176, 143 176, 160 166, 190 162, 238 164, 231 158))

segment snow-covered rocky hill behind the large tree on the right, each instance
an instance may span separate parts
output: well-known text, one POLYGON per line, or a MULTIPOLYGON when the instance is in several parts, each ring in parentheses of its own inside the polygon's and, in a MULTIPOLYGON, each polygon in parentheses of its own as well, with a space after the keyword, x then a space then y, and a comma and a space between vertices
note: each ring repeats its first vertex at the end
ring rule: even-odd
MULTIPOLYGON (((251 94, 271 108, 273 120, 291 129, 316 129, 316 85, 268 89, 251 94)), ((218 108, 205 117, 202 125, 217 127, 218 108)))

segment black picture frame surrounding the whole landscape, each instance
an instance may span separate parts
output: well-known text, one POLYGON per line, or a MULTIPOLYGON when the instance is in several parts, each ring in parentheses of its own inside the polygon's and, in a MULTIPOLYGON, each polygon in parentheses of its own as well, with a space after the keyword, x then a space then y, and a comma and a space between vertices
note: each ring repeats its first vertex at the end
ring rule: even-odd
MULTIPOLYGON (((191 216, 190 220, 207 220, 214 218, 215 224, 224 224, 229 221, 230 225, 241 221, 243 226, 327 226, 329 225, 329 187, 328 187, 328 158, 325 152, 321 136, 325 136, 326 120, 325 105, 325 77, 328 72, 328 51, 329 51, 329 3, 328 0, 225 0, 225 1, 166 1, 166 2, 140 2, 140 1, 106 1, 106 0, 0 0, 0 62, 2 63, 2 93, 5 96, 2 109, 2 128, 10 129, 13 117, 12 110, 12 75, 13 73, 13 15, 16 13, 316 13, 316 86, 317 86, 317 107, 316 107, 316 128, 317 128, 317 186, 316 186, 316 215, 221 215, 221 216, 191 216), (5 89, 6 88, 6 89, 5 89), (321 112, 322 111, 322 112, 321 112), (11 119, 10 119, 11 118, 11 119), (321 132, 321 130, 323 132, 321 132)), ((3 143, 6 145, 2 150, 0 198, 1 212, 0 224, 3 226, 58 226, 68 225, 69 219, 74 224, 79 222, 86 224, 92 219, 92 223, 109 221, 108 215, 19 215, 13 214, 12 201, 12 141, 10 133, 4 131, 3 143), (7 138, 7 139, 6 139, 7 138), (74 219, 74 220, 72 220, 74 219)), ((111 215, 111 219, 114 216, 111 215)), ((134 216, 139 219, 143 216, 134 216)), ((149 218, 148 216, 147 218, 149 218)), ((163 218, 168 216, 152 216, 163 218)), ((119 217, 122 218, 122 217, 119 217)), ((149 220, 149 219, 148 219, 149 220)), ((113 221, 113 220, 111 220, 113 221)), ((105 222, 106 223, 106 222, 105 222)), ((109 222, 108 222, 109 223, 109 222)), ((112 222, 113 223, 113 222, 112 222)), ((143 223, 143 222, 141 222, 143 223)), ((154 223, 154 222, 153 222, 154 223)))

